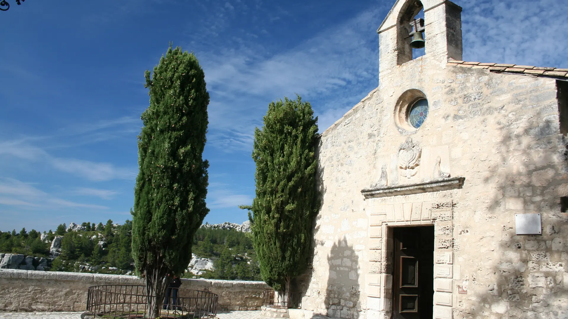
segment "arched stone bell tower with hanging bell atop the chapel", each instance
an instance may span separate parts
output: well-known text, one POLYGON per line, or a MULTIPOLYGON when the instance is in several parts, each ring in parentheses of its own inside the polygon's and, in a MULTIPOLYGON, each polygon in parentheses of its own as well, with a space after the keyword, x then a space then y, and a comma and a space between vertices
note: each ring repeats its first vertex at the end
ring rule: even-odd
MULTIPOLYGON (((377 30, 379 33, 379 73, 390 73, 412 60, 412 39, 417 31, 425 35, 425 55, 429 61, 462 59, 461 7, 447 0, 397 0, 377 30), (424 9, 424 20, 415 19, 424 9), (421 24, 423 23, 423 24, 421 24)), ((380 74, 379 74, 380 77, 380 74)))

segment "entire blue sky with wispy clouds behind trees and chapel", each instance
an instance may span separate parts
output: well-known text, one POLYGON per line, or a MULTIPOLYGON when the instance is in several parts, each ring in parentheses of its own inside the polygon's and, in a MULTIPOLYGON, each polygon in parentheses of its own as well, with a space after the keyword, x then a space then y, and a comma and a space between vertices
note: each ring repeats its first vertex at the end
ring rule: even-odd
MULTIPOLYGON (((130 219, 144 70, 169 41, 204 69, 205 221, 242 223, 254 127, 295 93, 320 132, 378 84, 394 1, 33 1, 0 12, 0 230, 130 219)), ((463 58, 568 68, 564 0, 457 1, 463 58)))

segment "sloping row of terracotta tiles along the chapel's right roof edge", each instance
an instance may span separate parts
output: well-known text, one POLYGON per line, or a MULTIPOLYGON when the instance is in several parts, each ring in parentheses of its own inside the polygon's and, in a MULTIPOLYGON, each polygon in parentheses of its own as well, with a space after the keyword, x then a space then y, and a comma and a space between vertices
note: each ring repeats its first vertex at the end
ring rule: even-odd
POLYGON ((549 75, 553 77, 568 77, 568 69, 548 68, 544 66, 516 65, 504 63, 480 63, 448 60, 448 66, 460 66, 462 68, 489 69, 494 72, 508 72, 519 74, 549 75))

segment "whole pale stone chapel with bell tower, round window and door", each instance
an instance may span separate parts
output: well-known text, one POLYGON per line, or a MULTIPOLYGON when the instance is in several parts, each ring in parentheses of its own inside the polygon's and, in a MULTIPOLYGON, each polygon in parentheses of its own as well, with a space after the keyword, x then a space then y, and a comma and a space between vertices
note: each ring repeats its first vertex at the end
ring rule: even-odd
POLYGON ((294 317, 568 318, 568 69, 462 61, 461 10, 378 28, 379 86, 321 135, 294 317))

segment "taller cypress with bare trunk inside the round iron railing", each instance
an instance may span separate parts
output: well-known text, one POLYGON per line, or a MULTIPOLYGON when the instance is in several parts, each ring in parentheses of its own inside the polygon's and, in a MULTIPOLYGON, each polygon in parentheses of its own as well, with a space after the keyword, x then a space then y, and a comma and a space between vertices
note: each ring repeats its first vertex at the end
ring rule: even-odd
POLYGON ((209 212, 208 162, 202 159, 209 94, 194 54, 171 44, 152 77, 147 70, 145 78, 150 106, 138 136, 132 255, 146 279, 147 315, 156 318, 167 275, 187 267, 195 231, 209 212))

